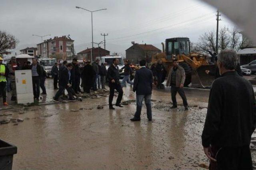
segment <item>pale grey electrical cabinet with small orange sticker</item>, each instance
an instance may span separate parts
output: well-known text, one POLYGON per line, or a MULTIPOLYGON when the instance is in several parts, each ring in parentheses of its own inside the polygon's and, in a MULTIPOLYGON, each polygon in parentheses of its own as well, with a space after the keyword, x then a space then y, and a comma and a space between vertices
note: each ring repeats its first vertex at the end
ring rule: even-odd
POLYGON ((16 70, 16 91, 18 104, 34 102, 31 70, 16 70))

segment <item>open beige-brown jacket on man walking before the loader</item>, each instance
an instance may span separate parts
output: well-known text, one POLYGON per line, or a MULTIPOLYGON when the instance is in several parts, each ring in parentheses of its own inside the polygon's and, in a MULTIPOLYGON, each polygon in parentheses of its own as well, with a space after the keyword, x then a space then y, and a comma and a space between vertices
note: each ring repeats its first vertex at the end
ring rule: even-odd
MULTIPOLYGON (((172 70, 173 70, 173 67, 170 69, 170 72, 167 77, 167 82, 166 82, 167 87, 171 85, 172 70)), ((186 78, 186 75, 185 75, 184 68, 182 68, 181 66, 178 66, 178 69, 176 71, 176 87, 180 87, 180 84, 184 84, 185 78, 186 78)))

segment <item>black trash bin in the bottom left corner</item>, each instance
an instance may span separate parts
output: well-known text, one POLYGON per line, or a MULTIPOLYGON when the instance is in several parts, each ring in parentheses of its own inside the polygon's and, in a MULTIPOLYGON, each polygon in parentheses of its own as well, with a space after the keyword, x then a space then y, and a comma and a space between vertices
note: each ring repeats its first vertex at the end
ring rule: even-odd
POLYGON ((12 170, 12 157, 17 147, 0 140, 0 170, 12 170))

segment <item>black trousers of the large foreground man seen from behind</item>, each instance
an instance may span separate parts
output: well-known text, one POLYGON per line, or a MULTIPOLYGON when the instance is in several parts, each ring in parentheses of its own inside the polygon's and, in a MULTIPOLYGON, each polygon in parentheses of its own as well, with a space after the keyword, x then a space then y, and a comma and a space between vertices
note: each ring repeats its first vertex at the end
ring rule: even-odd
POLYGON ((252 170, 250 146, 223 147, 218 151, 218 170, 252 170))

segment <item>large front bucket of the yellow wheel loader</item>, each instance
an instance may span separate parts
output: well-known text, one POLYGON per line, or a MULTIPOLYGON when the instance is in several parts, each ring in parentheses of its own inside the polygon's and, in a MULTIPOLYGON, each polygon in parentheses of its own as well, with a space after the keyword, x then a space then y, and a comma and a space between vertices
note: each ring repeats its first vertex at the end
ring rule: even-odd
POLYGON ((210 88, 214 80, 214 76, 206 74, 206 70, 215 72, 216 65, 202 65, 192 73, 192 86, 193 88, 210 88))

